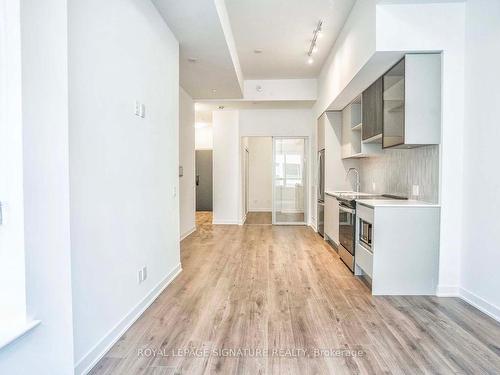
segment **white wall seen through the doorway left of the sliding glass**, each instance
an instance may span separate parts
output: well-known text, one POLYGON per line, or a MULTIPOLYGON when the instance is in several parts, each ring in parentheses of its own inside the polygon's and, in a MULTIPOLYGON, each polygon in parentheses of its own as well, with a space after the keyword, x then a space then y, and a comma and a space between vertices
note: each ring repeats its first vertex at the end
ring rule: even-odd
POLYGON ((273 139, 249 137, 249 211, 271 211, 273 199, 273 139))

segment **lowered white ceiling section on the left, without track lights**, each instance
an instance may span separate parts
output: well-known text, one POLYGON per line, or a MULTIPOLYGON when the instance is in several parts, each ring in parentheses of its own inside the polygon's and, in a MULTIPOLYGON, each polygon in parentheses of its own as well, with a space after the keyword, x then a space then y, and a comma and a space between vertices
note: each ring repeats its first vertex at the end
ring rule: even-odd
POLYGON ((191 97, 241 98, 215 1, 153 0, 153 3, 179 41, 180 83, 191 97), (189 62, 190 57, 197 58, 197 62, 189 62))

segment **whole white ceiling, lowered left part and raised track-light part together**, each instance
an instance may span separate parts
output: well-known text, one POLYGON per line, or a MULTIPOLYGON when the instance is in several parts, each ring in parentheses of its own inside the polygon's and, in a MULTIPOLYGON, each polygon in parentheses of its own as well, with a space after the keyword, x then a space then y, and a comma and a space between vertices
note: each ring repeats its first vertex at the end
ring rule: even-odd
POLYGON ((317 77, 355 3, 355 0, 152 1, 179 41, 180 84, 195 100, 242 98, 241 70, 247 80, 317 77), (323 37, 318 40, 314 63, 308 65, 307 50, 320 19, 323 37), (261 49, 262 53, 255 54, 255 49, 261 49), (196 62, 189 62, 190 58, 196 62))

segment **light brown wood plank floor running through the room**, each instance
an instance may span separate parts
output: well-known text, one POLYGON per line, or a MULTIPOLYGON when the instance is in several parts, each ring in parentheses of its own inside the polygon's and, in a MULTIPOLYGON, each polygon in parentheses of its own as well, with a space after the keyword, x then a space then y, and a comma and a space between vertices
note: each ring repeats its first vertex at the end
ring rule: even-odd
POLYGON ((372 297, 308 227, 205 218, 181 255, 92 374, 500 373, 497 322, 457 298, 372 297))

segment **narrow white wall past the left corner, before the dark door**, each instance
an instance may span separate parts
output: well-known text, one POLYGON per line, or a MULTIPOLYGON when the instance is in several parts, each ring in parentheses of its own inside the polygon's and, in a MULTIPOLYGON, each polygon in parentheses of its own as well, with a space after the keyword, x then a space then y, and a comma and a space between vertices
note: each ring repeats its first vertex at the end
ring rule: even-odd
POLYGON ((179 178, 179 226, 182 239, 196 229, 194 102, 182 87, 179 105, 179 164, 184 169, 183 176, 179 178))

